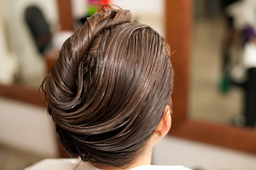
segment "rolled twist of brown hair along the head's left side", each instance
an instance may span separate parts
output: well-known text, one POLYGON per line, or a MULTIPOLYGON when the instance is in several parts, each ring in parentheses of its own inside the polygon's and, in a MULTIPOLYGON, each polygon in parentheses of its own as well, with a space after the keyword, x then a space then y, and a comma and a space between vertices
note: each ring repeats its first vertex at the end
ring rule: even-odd
MULTIPOLYGON (((132 15, 128 10, 113 10, 109 5, 103 5, 104 12, 96 12, 87 18, 87 22, 79 28, 62 45, 56 64, 53 66, 49 82, 54 84, 59 91, 47 94, 47 100, 55 100, 51 107, 61 110, 69 110, 80 102, 82 82, 77 82, 77 76, 82 76, 77 70, 86 54, 90 43, 103 30, 122 23, 128 23, 132 15), (105 9, 107 7, 107 9, 105 9), (74 67, 77 65, 77 67, 74 67), (60 76, 61 75, 61 76, 60 76), (66 81, 67 78, 69 81, 66 81)), ((48 86, 51 91, 52 86, 48 86)))

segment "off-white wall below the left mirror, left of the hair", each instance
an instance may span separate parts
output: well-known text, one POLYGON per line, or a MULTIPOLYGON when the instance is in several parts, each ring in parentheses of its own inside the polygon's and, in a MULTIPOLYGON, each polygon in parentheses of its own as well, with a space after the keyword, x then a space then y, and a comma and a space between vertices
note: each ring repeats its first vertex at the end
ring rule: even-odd
POLYGON ((55 125, 47 108, 0 97, 0 143, 41 156, 56 157, 55 125))

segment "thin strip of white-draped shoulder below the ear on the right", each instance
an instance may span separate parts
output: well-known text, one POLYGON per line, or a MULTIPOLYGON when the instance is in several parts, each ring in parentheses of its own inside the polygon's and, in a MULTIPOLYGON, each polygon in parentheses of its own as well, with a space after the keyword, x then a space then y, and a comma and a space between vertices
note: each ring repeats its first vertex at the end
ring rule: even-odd
POLYGON ((183 166, 146 165, 142 167, 136 167, 131 170, 191 170, 191 169, 183 166))

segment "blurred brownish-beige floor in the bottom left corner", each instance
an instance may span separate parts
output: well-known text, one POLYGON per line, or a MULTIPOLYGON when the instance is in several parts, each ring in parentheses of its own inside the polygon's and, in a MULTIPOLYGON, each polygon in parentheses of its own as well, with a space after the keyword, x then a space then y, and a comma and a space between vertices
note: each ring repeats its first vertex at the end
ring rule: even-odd
POLYGON ((44 159, 31 153, 0 144, 0 170, 23 170, 25 167, 44 159))

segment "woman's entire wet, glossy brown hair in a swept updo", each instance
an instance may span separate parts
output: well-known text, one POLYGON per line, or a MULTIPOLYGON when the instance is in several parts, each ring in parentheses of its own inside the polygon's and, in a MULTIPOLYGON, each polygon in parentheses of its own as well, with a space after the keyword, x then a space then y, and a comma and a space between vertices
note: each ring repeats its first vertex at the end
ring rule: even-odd
POLYGON ((41 89, 61 144, 82 161, 132 164, 172 93, 169 46, 128 10, 105 5, 69 37, 41 89))

